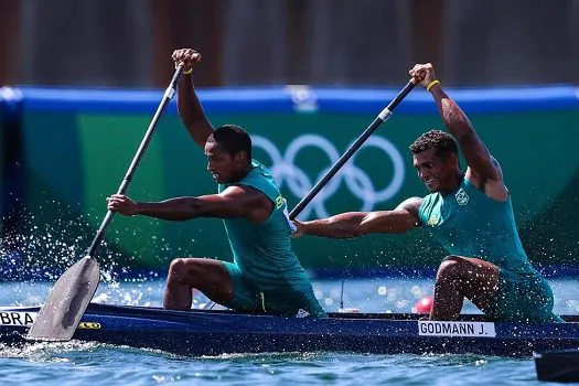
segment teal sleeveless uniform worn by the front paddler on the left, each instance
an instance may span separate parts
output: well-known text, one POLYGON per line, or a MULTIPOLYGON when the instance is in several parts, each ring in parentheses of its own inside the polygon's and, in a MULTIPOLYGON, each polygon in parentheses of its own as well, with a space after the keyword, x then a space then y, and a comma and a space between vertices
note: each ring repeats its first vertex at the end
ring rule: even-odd
POLYGON ((312 286, 291 248, 291 230, 286 200, 271 173, 257 161, 239 182, 219 184, 251 186, 274 203, 274 211, 260 224, 245 217, 224 219, 234 262, 224 262, 234 282, 228 308, 287 317, 325 317, 312 286))

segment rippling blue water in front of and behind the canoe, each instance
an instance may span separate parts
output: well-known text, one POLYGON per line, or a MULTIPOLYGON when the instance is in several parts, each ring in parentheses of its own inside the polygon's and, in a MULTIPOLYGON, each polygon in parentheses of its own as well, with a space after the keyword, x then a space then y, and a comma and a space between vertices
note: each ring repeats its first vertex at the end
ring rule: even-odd
MULTIPOLYGON (((132 305, 160 305, 163 280, 108 281, 95 299, 132 305)), ((579 312, 579 285, 551 280, 555 311, 579 312)), ((45 282, 0 285, 0 305, 40 304, 49 293, 45 282)), ((314 282, 328 311, 340 304, 340 281, 314 282)), ((344 307, 368 312, 410 312, 416 300, 431 294, 432 280, 350 280, 344 307)), ((196 307, 206 302, 196 297, 196 307)), ((465 311, 476 312, 467 303, 465 311)), ((36 343, 23 349, 0 345, 3 384, 43 385, 545 385, 536 379, 532 360, 481 355, 362 355, 336 353, 234 354, 179 357, 150 350, 95 343, 36 343)))

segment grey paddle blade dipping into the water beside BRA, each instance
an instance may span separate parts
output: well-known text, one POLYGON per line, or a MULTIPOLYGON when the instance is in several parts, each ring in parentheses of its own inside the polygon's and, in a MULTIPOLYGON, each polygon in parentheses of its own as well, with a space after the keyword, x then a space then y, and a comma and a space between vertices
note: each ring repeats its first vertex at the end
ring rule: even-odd
POLYGON ((69 341, 100 279, 98 261, 86 256, 56 281, 26 339, 69 341))

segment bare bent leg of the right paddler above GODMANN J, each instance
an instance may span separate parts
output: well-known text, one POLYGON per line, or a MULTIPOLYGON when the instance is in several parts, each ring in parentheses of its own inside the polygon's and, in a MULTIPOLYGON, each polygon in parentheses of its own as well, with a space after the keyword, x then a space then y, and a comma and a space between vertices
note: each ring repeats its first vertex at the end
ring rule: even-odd
POLYGON ((491 303, 498 283, 498 268, 476 258, 447 256, 437 272, 430 320, 455 320, 464 298, 481 310, 491 303))

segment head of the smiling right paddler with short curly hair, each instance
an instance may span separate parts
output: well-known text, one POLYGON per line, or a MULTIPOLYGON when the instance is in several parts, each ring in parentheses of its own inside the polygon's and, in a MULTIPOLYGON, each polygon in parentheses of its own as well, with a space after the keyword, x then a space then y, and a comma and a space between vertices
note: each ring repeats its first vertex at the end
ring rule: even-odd
POLYGON ((449 133, 430 130, 412 144, 414 165, 418 178, 430 192, 450 193, 460 184, 459 147, 449 133))

